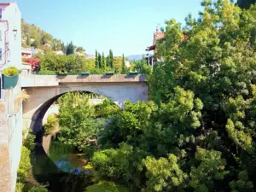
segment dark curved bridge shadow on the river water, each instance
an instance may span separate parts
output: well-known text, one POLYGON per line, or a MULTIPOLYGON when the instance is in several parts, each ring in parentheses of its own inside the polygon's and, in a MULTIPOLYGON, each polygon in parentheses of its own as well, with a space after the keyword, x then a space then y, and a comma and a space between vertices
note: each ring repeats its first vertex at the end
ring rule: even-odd
POLYGON ((47 184, 51 192, 79 192, 92 184, 91 176, 79 172, 63 172, 49 159, 42 144, 37 143, 35 153, 31 156, 32 175, 38 183, 47 184))

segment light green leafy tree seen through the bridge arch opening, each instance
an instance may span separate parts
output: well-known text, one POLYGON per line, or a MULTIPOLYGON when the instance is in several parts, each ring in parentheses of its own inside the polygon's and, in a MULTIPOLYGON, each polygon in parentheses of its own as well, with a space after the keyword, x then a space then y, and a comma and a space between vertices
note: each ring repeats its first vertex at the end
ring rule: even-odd
POLYGON ((88 103, 88 96, 79 92, 68 92, 58 101, 60 140, 85 150, 90 145, 97 145, 96 138, 100 131, 99 123, 94 119, 94 108, 88 103))

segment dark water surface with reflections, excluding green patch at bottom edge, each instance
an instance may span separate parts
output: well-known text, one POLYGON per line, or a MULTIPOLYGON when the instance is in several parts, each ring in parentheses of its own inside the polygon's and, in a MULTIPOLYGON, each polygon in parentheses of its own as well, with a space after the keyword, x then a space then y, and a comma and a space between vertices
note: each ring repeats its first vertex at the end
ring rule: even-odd
POLYGON ((75 154, 74 148, 55 140, 50 145, 49 156, 38 145, 31 157, 32 176, 38 183, 49 185, 51 192, 82 192, 92 184, 90 174, 83 169, 87 163, 83 155, 75 154))

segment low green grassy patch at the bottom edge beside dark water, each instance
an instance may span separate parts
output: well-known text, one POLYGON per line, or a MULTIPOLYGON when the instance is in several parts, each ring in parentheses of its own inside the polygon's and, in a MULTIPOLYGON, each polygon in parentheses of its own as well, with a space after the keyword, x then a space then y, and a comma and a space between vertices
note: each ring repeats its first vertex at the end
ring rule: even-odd
POLYGON ((129 190, 113 182, 101 181, 90 185, 84 192, 129 192, 129 190))

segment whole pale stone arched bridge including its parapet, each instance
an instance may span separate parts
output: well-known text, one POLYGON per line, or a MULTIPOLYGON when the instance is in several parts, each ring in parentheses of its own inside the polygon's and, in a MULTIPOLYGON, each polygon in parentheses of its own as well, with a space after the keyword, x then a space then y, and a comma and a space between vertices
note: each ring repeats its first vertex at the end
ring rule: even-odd
POLYGON ((21 75, 20 86, 30 99, 23 102, 23 127, 38 131, 49 106, 68 91, 88 91, 108 97, 124 107, 131 102, 148 101, 144 75, 21 75))

